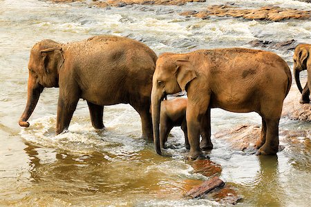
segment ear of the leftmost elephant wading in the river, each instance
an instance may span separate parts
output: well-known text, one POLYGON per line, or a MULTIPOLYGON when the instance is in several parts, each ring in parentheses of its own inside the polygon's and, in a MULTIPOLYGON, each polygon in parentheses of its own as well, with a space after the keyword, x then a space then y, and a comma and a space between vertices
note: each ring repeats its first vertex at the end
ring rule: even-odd
POLYGON ((50 73, 55 69, 57 70, 64 62, 64 58, 62 56, 62 49, 48 48, 45 50, 41 50, 40 52, 43 57, 44 68, 46 69, 47 73, 50 73))

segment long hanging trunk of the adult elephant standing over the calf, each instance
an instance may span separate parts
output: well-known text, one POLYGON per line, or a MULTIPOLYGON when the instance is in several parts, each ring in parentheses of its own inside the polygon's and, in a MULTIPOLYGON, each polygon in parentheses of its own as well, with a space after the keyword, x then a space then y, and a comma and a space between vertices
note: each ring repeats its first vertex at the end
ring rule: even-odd
POLYGON ((153 125, 153 143, 156 148, 156 152, 161 155, 160 147, 160 104, 162 96, 158 95, 158 91, 155 87, 152 88, 151 92, 151 114, 152 114, 152 125, 153 125))

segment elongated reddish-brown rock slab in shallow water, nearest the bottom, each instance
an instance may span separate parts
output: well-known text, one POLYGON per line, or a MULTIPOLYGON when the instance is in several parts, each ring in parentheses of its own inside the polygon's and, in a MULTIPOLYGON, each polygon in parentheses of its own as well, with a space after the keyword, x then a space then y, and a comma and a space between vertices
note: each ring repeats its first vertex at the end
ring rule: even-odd
POLYGON ((224 185, 225 183, 219 179, 219 177, 213 177, 207 181, 204 181, 202 184, 200 184, 200 186, 196 186, 195 188, 189 190, 185 194, 185 197, 190 199, 202 197, 206 193, 209 193, 211 190, 214 190, 217 187, 222 187, 224 185))

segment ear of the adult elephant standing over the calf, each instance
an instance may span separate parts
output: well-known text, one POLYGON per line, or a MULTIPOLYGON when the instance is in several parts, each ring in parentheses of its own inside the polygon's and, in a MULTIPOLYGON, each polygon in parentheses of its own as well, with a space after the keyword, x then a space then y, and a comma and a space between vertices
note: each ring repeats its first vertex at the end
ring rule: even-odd
POLYGON ((192 67, 191 61, 178 59, 176 62, 176 78, 181 90, 185 90, 187 83, 197 77, 196 71, 192 67))

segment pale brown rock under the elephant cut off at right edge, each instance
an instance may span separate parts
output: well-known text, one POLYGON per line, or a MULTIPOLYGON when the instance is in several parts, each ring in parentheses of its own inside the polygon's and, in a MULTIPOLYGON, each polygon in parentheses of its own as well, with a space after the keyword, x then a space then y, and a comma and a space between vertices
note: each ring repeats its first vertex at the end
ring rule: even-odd
POLYGON ((299 103, 301 93, 292 83, 292 88, 283 103, 282 117, 288 117, 293 120, 311 121, 310 103, 299 103))

